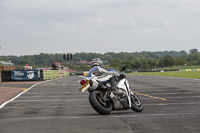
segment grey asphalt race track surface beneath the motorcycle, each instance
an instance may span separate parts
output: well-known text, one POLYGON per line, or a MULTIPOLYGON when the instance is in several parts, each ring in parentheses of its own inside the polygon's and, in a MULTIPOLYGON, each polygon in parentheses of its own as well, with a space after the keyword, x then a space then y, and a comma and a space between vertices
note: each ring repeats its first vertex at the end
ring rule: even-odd
POLYGON ((77 76, 41 83, 0 109, 0 133, 200 133, 200 80, 128 76, 144 111, 102 116, 77 76))

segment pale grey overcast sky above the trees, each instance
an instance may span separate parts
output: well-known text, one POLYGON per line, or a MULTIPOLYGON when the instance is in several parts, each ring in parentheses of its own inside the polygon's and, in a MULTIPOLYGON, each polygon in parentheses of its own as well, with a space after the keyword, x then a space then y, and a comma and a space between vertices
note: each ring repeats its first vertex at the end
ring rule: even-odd
POLYGON ((0 56, 200 50, 200 0, 0 0, 0 56))

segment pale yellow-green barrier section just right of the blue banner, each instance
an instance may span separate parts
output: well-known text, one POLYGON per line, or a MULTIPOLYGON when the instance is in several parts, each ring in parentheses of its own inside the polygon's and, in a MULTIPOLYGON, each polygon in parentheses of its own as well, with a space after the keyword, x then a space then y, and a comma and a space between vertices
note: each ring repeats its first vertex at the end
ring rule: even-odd
POLYGON ((59 70, 43 70, 43 79, 56 79, 60 77, 59 70))

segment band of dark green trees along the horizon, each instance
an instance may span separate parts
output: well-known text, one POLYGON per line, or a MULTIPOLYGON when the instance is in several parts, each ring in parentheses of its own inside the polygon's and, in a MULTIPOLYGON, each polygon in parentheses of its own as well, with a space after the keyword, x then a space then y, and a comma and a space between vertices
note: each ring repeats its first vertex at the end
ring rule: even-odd
POLYGON ((34 68, 51 67, 54 61, 60 62, 63 66, 68 66, 75 70, 89 70, 89 64, 80 63, 81 60, 90 62, 93 58, 101 58, 107 67, 119 69, 122 64, 126 64, 130 71, 144 71, 163 67, 200 65, 200 52, 197 49, 191 49, 189 53, 185 51, 160 51, 160 52, 108 52, 100 53, 74 53, 73 59, 66 61, 63 54, 41 53, 39 55, 24 56, 1 56, 3 61, 11 61, 17 69, 21 69, 28 64, 34 68))

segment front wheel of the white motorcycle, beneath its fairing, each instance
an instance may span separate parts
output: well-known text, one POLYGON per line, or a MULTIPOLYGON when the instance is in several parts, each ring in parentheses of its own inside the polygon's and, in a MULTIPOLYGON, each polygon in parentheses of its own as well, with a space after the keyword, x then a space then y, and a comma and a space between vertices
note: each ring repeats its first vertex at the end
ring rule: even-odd
POLYGON ((137 95, 131 95, 131 109, 135 112, 142 112, 144 107, 140 98, 137 95))

